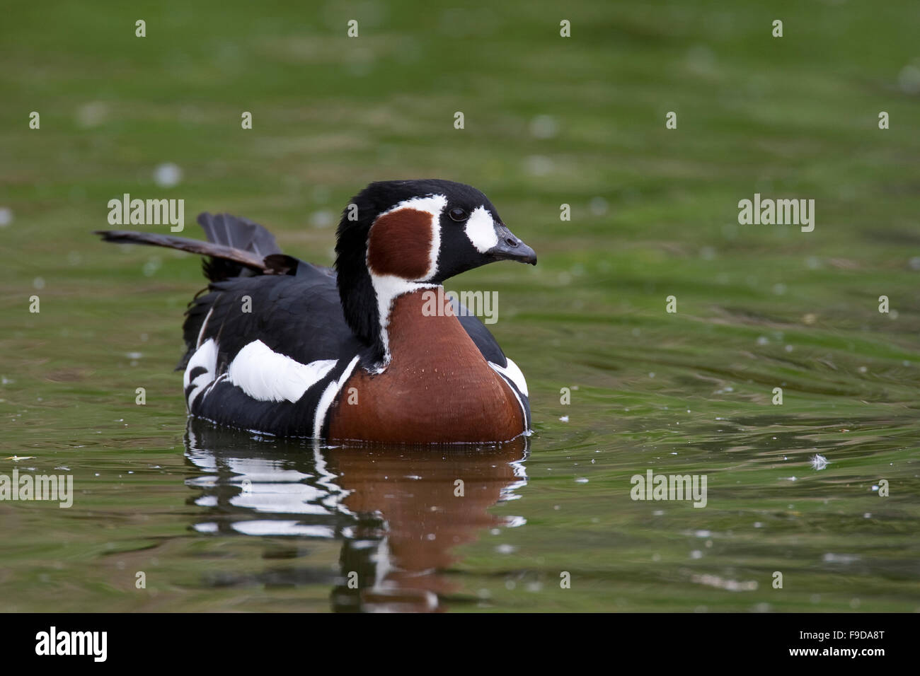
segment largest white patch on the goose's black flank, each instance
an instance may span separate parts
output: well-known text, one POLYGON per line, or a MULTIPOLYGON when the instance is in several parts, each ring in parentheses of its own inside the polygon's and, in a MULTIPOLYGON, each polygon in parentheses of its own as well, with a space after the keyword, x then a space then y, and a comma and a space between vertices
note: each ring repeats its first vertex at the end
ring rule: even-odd
POLYGON ((231 383, 253 399, 295 402, 335 365, 334 359, 302 364, 272 351, 261 340, 253 340, 236 353, 227 374, 231 383))

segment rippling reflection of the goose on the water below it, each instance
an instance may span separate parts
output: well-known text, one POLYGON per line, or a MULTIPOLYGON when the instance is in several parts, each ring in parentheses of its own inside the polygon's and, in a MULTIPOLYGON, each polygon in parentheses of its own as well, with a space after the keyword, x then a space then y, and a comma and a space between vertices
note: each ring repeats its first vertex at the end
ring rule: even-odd
POLYGON ((519 525, 489 508, 518 498, 528 440, 452 447, 324 446, 259 437, 190 418, 187 480, 211 508, 200 533, 342 541, 331 594, 340 612, 444 610, 458 591, 454 549, 519 525))

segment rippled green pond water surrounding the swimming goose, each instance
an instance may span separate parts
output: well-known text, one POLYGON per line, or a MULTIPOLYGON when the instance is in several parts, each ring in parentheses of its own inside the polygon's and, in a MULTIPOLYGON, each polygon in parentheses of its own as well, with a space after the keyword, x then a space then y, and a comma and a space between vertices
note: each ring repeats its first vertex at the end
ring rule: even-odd
POLYGON ((771 5, 167 3, 143 40, 127 8, 6 8, 0 475, 75 497, 0 501, 0 610, 920 609, 920 9, 771 5), (499 293, 526 448, 187 430, 198 263, 98 243, 109 199, 328 264, 354 192, 427 176, 539 255, 448 284, 499 293), (814 199, 814 231, 739 224, 755 192, 814 199), (631 499, 649 469, 706 475, 706 507, 631 499))

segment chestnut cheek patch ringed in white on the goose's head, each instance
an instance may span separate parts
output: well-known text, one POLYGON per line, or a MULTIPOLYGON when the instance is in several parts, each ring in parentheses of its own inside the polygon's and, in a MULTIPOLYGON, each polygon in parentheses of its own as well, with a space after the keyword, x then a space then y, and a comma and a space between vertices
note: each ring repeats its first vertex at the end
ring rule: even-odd
POLYGON ((431 213, 397 209, 380 216, 367 240, 367 266, 374 275, 420 280, 431 267, 431 213))

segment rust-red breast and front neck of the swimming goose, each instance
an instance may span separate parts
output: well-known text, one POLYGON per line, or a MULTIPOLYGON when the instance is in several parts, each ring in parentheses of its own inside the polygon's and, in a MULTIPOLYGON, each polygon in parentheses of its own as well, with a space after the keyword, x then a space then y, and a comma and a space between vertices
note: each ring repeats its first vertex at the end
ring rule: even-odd
POLYGON ((382 373, 357 369, 351 375, 332 409, 330 439, 508 441, 524 431, 511 387, 489 367, 455 316, 422 314, 423 293, 407 293, 394 302, 390 364, 382 373))

